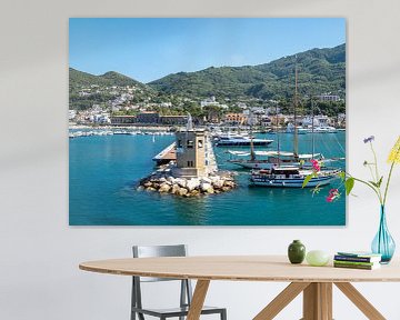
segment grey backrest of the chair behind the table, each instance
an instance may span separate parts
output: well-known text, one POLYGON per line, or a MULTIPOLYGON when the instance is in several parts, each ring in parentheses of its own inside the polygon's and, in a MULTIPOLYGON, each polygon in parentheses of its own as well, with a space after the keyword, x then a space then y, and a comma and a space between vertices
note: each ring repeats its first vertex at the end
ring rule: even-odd
MULTIPOLYGON (((156 257, 186 257, 188 248, 186 244, 172 246, 133 246, 133 258, 156 257)), ((177 279, 140 277, 140 282, 172 281, 177 279)))

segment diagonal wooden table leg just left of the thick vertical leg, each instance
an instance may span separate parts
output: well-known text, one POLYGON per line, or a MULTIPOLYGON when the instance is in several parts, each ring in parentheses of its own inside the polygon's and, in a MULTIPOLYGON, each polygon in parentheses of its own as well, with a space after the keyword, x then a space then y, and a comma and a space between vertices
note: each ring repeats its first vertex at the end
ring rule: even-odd
POLYGON ((271 320, 282 311, 301 291, 303 291, 309 282, 292 282, 282 292, 280 292, 264 309, 258 313, 253 320, 271 320))

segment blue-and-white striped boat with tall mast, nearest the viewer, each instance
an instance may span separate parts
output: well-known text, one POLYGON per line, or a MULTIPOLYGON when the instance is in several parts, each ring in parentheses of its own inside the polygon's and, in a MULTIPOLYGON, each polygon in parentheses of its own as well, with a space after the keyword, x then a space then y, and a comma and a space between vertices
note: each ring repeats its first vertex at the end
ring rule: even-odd
MULTIPOLYGON (((294 73, 294 123, 297 123, 297 107, 298 107, 298 68, 296 63, 296 73, 294 73)), ((277 151, 277 163, 274 166, 271 166, 271 168, 268 169, 261 169, 261 170, 252 170, 251 171, 251 178, 250 182, 253 186, 260 186, 260 187, 286 187, 286 188, 301 188, 303 184, 304 179, 311 174, 313 171, 312 169, 304 169, 303 166, 301 166, 301 161, 304 161, 301 159, 299 154, 299 137, 298 137, 298 128, 294 126, 293 128, 293 152, 290 154, 292 161, 290 164, 284 163, 281 159, 281 152, 280 152, 280 143, 278 139, 278 151, 277 151), (297 164, 299 163, 299 164, 297 164)), ((313 146, 312 146, 312 158, 314 158, 313 152, 313 146)), ((307 161, 304 163, 310 163, 310 161, 307 161)), ((312 177, 307 187, 312 188, 317 186, 326 186, 329 184, 340 172, 339 169, 333 170, 322 170, 316 174, 316 177, 312 177)))

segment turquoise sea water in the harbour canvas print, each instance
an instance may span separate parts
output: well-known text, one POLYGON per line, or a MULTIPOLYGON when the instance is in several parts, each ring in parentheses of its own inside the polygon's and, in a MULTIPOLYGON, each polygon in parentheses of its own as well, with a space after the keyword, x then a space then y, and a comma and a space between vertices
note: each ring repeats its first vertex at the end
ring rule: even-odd
MULTIPOLYGON (((258 134, 277 139, 276 134, 258 134)), ((70 226, 344 226, 346 199, 326 201, 334 181, 312 196, 310 189, 249 187, 249 174, 227 163, 227 149, 216 148, 220 169, 236 170, 239 188, 227 193, 182 199, 137 191, 153 170, 151 158, 173 136, 93 136, 69 141, 70 226)), ((324 157, 344 157, 346 132, 314 134, 324 157)), ((281 150, 292 150, 292 136, 280 134, 281 150)), ((300 152, 311 152, 311 134, 299 136, 300 152)), ((266 148, 264 148, 266 149, 266 148)), ((267 149, 276 150, 276 141, 267 149)), ((237 149, 239 150, 239 149, 237 149)), ((241 149, 246 150, 246 149, 241 149)), ((262 150, 258 149, 258 150, 262 150)), ((344 161, 340 163, 344 167, 344 161)))

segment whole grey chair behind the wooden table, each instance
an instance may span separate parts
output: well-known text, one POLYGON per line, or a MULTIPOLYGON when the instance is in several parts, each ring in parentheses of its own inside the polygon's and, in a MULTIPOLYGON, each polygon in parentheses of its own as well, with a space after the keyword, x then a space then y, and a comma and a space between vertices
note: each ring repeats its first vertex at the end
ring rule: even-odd
MULTIPOLYGON (((187 246, 133 246, 133 258, 149 258, 149 257, 186 257, 187 246)), ((150 278, 150 277, 132 277, 132 299, 131 299, 131 320, 136 320, 138 314, 139 320, 144 320, 144 316, 152 316, 160 320, 167 318, 178 318, 183 320, 188 316, 189 307, 192 298, 192 288, 190 280, 166 279, 166 278, 150 278), (141 299, 141 282, 157 282, 157 281, 181 281, 180 289, 180 304, 178 308, 169 309, 153 309, 143 308, 141 299)), ((220 320, 227 320, 227 309, 216 307, 203 307, 201 314, 220 314, 220 320)))

